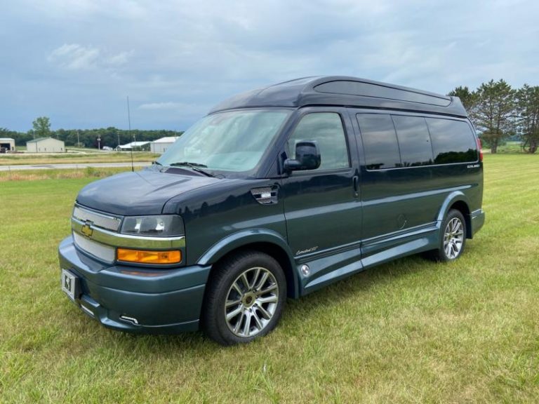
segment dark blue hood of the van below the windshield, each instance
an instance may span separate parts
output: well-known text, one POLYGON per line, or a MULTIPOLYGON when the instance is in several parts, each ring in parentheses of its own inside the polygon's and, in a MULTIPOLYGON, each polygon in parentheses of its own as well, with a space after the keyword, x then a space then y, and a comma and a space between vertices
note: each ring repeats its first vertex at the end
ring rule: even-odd
POLYGON ((142 170, 92 182, 79 192, 76 201, 114 215, 159 215, 170 198, 219 181, 187 173, 142 170))

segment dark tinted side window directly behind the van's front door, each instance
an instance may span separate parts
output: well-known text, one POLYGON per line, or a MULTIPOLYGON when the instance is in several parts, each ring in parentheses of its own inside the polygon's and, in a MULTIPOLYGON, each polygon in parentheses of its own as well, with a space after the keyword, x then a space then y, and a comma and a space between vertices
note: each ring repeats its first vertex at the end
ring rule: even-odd
POLYGON ((390 115, 357 114, 368 170, 401 167, 397 134, 390 115))

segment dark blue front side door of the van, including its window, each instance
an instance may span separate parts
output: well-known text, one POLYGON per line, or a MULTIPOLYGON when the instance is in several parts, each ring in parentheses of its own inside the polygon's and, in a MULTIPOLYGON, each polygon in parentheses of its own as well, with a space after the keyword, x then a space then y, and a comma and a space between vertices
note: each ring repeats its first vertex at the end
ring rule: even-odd
POLYGON ((302 279, 308 288, 309 283, 321 286, 333 280, 330 274, 316 282, 345 261, 359 260, 361 203, 357 146, 346 111, 307 109, 288 137, 288 158, 294 159, 301 140, 317 142, 321 165, 292 171, 281 189, 288 244, 298 264, 310 266, 310 275, 302 279))

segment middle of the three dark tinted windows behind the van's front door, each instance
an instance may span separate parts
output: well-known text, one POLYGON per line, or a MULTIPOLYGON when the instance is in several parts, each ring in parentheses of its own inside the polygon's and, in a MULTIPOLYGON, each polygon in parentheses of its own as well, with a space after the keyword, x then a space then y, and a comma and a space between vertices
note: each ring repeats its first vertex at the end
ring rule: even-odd
POLYGON ((432 164, 432 146, 425 118, 421 116, 392 115, 403 167, 432 164))

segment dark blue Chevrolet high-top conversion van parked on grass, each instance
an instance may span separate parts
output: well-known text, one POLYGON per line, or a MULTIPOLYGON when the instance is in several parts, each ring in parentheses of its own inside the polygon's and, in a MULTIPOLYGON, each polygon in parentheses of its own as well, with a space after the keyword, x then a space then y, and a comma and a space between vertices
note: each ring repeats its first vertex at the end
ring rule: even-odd
POLYGON ((62 289, 109 328, 249 342, 287 297, 456 260, 484 223, 481 160, 455 97, 341 76, 243 93, 151 167, 80 191, 62 289))

